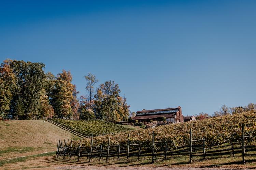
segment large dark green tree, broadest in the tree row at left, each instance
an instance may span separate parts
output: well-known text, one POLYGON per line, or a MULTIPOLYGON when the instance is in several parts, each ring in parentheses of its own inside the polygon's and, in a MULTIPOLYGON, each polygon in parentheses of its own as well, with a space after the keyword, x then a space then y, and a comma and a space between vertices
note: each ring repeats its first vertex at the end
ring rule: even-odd
POLYGON ((10 66, 17 78, 17 87, 13 91, 11 101, 12 115, 19 119, 37 119, 40 117, 40 96, 44 89, 45 65, 14 60, 10 66), (17 105, 24 109, 24 113, 18 111, 17 105))

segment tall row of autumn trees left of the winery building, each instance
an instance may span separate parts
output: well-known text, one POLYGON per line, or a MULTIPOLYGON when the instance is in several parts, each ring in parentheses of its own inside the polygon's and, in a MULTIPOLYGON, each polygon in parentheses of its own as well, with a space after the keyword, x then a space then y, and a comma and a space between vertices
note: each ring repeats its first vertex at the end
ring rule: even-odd
POLYGON ((125 121, 129 116, 126 98, 114 81, 106 81, 95 89, 98 80, 88 73, 86 96, 78 96, 70 71, 54 76, 45 73, 41 62, 4 60, 0 66, 0 120, 93 119, 125 121))

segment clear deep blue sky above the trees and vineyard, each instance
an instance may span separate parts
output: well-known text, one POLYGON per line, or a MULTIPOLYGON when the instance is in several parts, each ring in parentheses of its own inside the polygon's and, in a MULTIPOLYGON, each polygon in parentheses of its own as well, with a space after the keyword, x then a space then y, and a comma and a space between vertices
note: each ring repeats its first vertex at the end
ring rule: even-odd
POLYGON ((0 0, 0 59, 114 80, 131 111, 256 103, 256 1, 0 0))

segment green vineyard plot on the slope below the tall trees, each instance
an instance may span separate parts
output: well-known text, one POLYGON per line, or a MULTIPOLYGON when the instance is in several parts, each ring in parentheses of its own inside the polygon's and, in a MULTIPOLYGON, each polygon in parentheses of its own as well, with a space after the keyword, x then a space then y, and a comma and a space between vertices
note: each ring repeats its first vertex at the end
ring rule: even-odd
POLYGON ((122 125, 102 121, 102 120, 65 120, 51 119, 58 125, 71 129, 85 136, 98 136, 105 134, 115 134, 132 130, 122 125))

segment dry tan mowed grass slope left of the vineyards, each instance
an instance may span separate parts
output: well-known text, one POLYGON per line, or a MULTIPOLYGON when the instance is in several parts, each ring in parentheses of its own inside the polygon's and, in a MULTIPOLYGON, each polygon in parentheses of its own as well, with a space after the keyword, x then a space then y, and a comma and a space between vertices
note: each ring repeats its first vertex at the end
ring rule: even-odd
POLYGON ((59 139, 76 135, 46 120, 0 121, 0 160, 52 152, 59 139))

